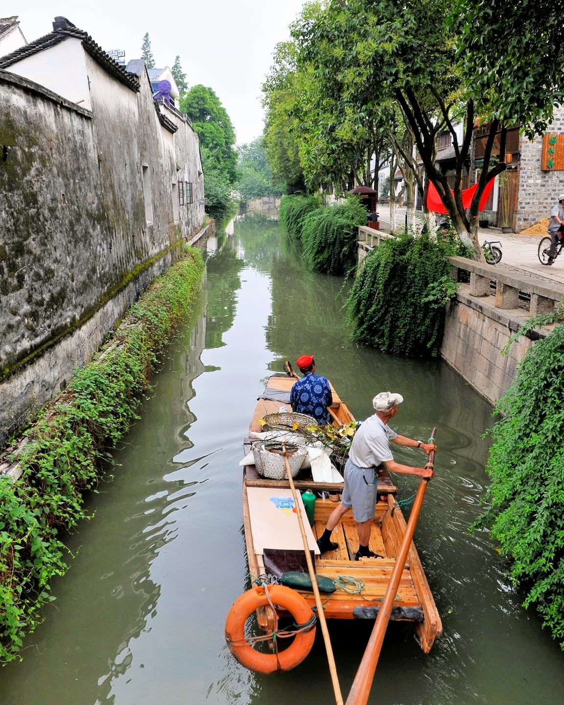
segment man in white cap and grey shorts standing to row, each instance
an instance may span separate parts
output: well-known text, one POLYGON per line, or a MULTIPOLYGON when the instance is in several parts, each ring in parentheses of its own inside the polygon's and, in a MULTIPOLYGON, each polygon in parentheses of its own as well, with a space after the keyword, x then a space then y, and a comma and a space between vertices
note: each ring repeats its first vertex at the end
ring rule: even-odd
POLYGON ((419 477, 433 477, 433 470, 423 467, 401 465, 393 460, 390 450, 390 441, 396 446, 421 448, 425 453, 436 450, 434 443, 424 443, 399 436, 396 431, 388 427, 388 421, 393 419, 398 412, 398 405, 403 402, 403 396, 394 392, 380 392, 372 400, 375 413, 360 424, 353 443, 350 445, 347 464, 345 465, 345 486, 341 504, 336 507, 331 515, 325 531, 317 545, 319 551, 334 551, 338 544, 331 541, 331 532, 338 525, 341 517, 350 508, 357 524, 359 548, 355 560, 360 558, 381 558, 369 549, 370 529, 374 519, 374 509, 378 500, 378 471, 386 467, 390 472, 404 475, 419 475, 419 477))

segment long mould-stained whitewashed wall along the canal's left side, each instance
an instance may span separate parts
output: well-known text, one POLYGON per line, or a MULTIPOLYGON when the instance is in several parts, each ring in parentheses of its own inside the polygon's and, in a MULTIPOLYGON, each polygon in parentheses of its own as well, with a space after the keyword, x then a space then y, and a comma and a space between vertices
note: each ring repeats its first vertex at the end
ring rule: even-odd
POLYGON ((166 111, 171 133, 148 78, 135 92, 86 59, 92 111, 0 71, 0 447, 204 222, 190 122, 166 111), (178 208, 180 179, 194 202, 178 208))

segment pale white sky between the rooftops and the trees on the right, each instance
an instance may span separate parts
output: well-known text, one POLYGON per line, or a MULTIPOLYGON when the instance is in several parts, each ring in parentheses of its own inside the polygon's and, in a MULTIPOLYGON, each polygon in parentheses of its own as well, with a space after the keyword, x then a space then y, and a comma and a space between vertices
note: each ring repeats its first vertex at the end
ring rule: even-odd
POLYGON ((180 56, 188 86, 212 88, 226 109, 238 144, 262 134, 261 86, 274 47, 290 37, 288 25, 304 0, 4 0, 2 17, 17 15, 27 39, 53 30, 63 16, 88 32, 102 49, 125 49, 139 59, 149 32, 155 66, 172 66, 180 56))

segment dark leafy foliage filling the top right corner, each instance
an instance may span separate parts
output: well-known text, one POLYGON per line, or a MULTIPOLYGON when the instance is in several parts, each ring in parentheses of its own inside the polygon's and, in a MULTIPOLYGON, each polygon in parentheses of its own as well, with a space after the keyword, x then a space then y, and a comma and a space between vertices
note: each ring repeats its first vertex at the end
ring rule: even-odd
POLYGON ((562 8, 553 0, 453 0, 462 77, 485 95, 482 116, 542 134, 564 98, 562 8))

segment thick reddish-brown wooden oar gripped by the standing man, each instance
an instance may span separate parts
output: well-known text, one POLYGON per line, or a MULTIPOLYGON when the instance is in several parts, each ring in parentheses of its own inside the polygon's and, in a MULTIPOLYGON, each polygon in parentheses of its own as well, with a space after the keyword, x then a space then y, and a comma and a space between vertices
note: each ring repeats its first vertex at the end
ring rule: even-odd
MULTIPOLYGON (((433 429, 429 443, 434 441, 435 433, 436 428, 433 429)), ((434 467, 434 460, 435 451, 431 450, 431 453, 429 453, 427 458, 427 465, 425 465, 425 467, 430 467, 432 469, 434 467)), ((384 595, 384 602, 382 603, 378 616, 376 617, 372 634, 370 635, 370 639, 364 651, 364 656, 362 656, 362 661, 360 661, 360 666, 358 667, 357 675, 355 675, 355 680, 353 680, 353 685, 350 687, 350 692, 345 705, 366 705, 368 702, 370 688, 372 687, 372 680, 374 680, 374 673, 376 672, 376 666, 378 664, 378 659, 380 658, 384 635, 386 634, 386 628, 388 627, 388 622, 390 620, 390 615, 393 608, 393 601, 396 599, 401 574, 403 573, 403 568, 405 568, 405 561, 407 560, 407 554, 410 551, 411 541, 413 539, 413 534, 415 533, 415 526, 417 525, 417 520, 419 519, 419 511, 421 510, 425 491, 427 490, 427 482, 429 482, 429 480, 424 477, 419 483, 417 495, 415 496, 415 501, 411 508, 410 518, 407 522, 407 527, 405 528, 405 534, 400 546, 400 551, 398 556, 396 556, 396 565, 393 567, 390 582, 388 582, 386 594, 384 595)))

